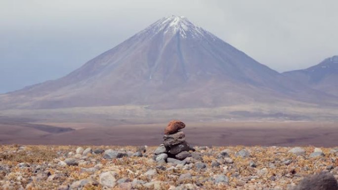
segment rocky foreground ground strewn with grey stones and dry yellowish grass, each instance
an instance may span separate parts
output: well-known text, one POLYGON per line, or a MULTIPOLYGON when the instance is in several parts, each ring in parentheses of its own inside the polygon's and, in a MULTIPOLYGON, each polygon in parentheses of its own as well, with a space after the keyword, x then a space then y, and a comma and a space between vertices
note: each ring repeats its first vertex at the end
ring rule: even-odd
POLYGON ((1 145, 0 189, 289 190, 323 170, 338 179, 338 149, 194 147, 168 163, 156 149, 1 145))

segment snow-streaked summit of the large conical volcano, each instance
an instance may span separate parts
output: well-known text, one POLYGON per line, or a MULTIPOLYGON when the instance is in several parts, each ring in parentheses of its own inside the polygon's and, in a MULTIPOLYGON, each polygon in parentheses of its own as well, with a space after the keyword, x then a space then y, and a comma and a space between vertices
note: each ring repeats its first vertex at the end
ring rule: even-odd
POLYGON ((156 21, 141 33, 152 33, 154 35, 158 33, 165 35, 179 34, 182 38, 202 38, 208 35, 215 38, 211 33, 203 30, 201 27, 195 26, 186 17, 175 15, 156 21))

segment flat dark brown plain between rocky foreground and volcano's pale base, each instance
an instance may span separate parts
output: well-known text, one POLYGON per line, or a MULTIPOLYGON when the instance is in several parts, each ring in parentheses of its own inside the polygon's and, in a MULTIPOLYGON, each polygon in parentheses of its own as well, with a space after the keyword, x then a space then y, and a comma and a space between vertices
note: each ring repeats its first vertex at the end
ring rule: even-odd
MULTIPOLYGON (((25 122, 1 122, 0 144, 31 145, 156 146, 162 143, 163 129, 167 125, 166 123, 111 126, 97 123, 37 125, 25 122), (48 126, 51 127, 50 131, 47 130, 48 126)), ((338 123, 335 122, 186 122, 186 126, 184 133, 187 142, 198 146, 333 147, 338 144, 338 123)))

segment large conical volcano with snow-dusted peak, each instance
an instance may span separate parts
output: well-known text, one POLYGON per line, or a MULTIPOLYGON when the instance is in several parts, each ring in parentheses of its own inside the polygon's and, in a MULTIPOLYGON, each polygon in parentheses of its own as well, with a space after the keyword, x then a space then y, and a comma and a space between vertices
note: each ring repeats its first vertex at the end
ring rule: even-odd
POLYGON ((170 16, 67 76, 0 96, 0 109, 322 103, 318 97, 332 98, 256 62, 186 18, 170 16))

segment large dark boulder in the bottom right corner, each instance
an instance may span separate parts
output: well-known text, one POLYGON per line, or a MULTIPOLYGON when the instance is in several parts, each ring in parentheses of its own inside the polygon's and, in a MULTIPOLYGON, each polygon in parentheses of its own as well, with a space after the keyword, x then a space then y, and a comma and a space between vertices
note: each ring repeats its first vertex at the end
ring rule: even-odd
POLYGON ((338 184, 331 173, 321 172, 304 178, 294 190, 338 190, 338 184))

